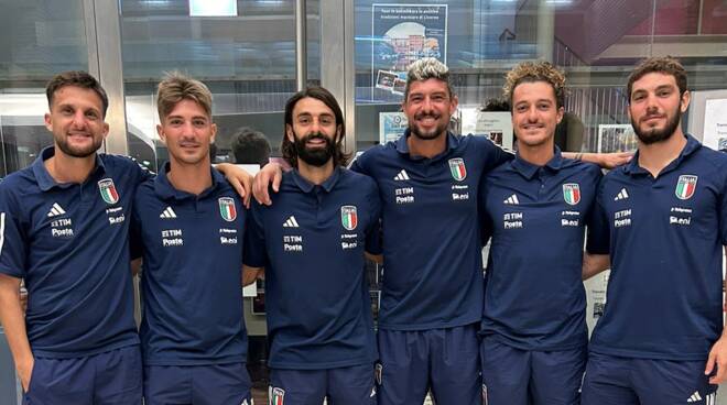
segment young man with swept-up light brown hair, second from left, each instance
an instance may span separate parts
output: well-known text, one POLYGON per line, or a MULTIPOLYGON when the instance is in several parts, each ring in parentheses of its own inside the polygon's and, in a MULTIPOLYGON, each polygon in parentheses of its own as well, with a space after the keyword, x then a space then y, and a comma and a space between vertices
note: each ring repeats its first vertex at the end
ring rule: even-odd
POLYGON ((170 161, 137 191, 132 242, 142 253, 144 403, 248 404, 242 316, 247 212, 211 168, 213 97, 180 74, 158 87, 170 161))

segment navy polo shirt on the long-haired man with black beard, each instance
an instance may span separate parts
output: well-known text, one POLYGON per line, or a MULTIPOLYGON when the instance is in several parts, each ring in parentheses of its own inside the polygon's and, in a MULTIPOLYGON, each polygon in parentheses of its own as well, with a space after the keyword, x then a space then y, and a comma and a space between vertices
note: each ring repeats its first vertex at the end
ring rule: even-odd
POLYGON ((373 180, 337 168, 322 185, 293 169, 272 206, 253 202, 245 263, 265 267, 271 368, 333 369, 377 359, 365 249, 378 253, 373 180))

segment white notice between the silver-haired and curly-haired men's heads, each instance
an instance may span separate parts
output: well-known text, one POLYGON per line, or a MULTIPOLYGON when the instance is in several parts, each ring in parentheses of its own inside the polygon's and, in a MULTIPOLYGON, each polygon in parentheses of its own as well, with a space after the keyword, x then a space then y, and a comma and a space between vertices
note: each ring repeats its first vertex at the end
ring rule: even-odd
POLYGON ((512 116, 508 111, 480 111, 479 107, 462 110, 462 134, 487 136, 497 145, 512 150, 512 116))

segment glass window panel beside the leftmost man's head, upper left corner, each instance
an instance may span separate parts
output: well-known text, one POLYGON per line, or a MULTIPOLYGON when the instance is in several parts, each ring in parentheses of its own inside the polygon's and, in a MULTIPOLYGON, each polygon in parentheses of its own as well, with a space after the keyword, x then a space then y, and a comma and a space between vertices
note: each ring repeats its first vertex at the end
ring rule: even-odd
POLYGON ((30 165, 53 143, 43 125, 45 84, 88 69, 80 0, 0 0, 0 177, 30 165))

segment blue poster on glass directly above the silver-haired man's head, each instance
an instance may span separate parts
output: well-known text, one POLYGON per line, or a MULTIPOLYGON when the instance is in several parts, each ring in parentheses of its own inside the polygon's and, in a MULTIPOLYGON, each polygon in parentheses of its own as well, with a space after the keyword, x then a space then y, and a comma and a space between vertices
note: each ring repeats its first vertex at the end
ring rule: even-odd
POLYGON ((406 67, 423 57, 447 63, 447 4, 372 4, 371 83, 403 95, 406 67))

